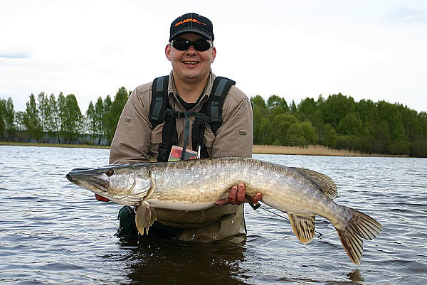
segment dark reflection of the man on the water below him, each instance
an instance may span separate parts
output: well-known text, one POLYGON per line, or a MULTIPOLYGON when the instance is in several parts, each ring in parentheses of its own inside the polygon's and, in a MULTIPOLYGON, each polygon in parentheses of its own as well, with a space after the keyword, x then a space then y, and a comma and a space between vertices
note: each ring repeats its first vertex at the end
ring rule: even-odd
POLYGON ((212 244, 144 239, 118 242, 127 277, 142 284, 244 284, 239 264, 245 247, 228 242, 212 244))

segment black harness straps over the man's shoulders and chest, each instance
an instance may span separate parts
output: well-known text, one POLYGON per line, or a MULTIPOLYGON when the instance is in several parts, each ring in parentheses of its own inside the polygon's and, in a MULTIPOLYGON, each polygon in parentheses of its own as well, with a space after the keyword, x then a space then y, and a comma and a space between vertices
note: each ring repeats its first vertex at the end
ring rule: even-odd
POLYGON ((201 107, 199 112, 179 112, 172 108, 169 103, 168 86, 169 76, 157 77, 153 81, 152 101, 149 107, 149 122, 152 129, 164 123, 162 131, 162 142, 159 144, 158 161, 167 161, 173 145, 178 144, 178 133, 176 131, 176 119, 185 119, 184 125, 184 146, 182 147, 181 160, 184 159, 186 146, 189 141, 190 117, 194 117, 193 128, 191 129, 191 145, 193 151, 200 151, 200 157, 209 157, 204 145, 204 131, 209 124, 211 130, 216 135, 216 131, 222 124, 222 107, 226 99, 228 90, 235 85, 231 79, 226 77, 216 77, 212 86, 209 100, 201 107), (200 149, 199 149, 200 148, 200 149))

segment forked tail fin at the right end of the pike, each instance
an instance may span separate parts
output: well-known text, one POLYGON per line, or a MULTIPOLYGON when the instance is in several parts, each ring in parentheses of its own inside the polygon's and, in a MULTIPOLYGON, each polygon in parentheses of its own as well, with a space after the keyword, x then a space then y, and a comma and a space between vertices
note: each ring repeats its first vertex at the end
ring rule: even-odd
POLYGON ((354 264, 359 265, 363 254, 363 240, 372 240, 379 235, 382 226, 372 217, 358 210, 352 211, 352 218, 344 229, 337 229, 339 240, 354 264))

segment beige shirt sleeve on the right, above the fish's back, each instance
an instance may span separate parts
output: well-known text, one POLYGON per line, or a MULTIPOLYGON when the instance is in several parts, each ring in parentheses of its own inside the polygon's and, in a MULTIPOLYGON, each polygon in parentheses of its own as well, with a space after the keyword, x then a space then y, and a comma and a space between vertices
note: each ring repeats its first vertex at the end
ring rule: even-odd
POLYGON ((223 124, 216 131, 212 157, 252 157, 252 106, 248 97, 240 90, 238 92, 238 97, 227 95, 230 101, 223 107, 223 124))

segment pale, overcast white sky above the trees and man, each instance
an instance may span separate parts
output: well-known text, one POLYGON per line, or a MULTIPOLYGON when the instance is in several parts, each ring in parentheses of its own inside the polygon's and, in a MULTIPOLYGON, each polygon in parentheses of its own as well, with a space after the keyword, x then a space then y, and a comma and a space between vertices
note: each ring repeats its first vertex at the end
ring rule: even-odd
POLYGON ((114 97, 168 75, 172 21, 214 24, 215 75, 296 104, 341 92, 427 111, 427 1, 0 0, 0 99, 114 97))

